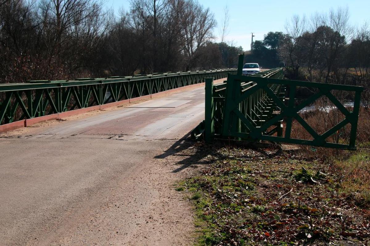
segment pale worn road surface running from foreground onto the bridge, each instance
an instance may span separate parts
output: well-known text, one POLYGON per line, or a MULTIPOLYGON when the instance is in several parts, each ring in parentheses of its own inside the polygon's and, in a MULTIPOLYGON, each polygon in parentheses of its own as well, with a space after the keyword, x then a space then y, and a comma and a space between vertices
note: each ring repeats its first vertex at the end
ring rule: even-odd
POLYGON ((168 158, 203 118, 199 88, 1 134, 0 245, 191 244, 168 158))

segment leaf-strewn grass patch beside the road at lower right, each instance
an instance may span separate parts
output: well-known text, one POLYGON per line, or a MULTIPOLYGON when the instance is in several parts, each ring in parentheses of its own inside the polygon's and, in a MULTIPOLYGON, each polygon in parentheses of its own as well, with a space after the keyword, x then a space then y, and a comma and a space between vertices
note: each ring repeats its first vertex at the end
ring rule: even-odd
POLYGON ((327 162, 275 150, 212 151, 215 161, 178 186, 195 205, 197 245, 370 243, 366 152, 327 162))

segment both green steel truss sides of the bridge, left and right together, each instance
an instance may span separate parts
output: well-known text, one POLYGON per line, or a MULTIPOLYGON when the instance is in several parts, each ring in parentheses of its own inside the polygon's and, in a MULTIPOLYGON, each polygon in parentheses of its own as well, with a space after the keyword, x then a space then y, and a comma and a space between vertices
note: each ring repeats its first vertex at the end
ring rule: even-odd
POLYGON ((240 55, 238 69, 0 84, 0 126, 205 82, 205 120, 192 131, 194 138, 204 136, 207 142, 226 138, 356 149, 362 87, 287 80, 283 68, 242 76, 243 59, 240 55), (213 84, 214 79, 225 77, 224 83, 213 84), (314 92, 297 104, 296 91, 300 87, 314 92), (333 90, 352 93, 353 107, 346 108, 333 90), (322 96, 327 97, 344 118, 327 131, 318 133, 299 111, 322 96), (293 121, 310 134, 309 139, 291 135, 293 121), (349 142, 328 141, 346 125, 350 126, 349 142))

